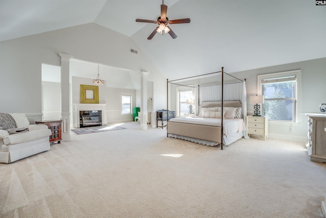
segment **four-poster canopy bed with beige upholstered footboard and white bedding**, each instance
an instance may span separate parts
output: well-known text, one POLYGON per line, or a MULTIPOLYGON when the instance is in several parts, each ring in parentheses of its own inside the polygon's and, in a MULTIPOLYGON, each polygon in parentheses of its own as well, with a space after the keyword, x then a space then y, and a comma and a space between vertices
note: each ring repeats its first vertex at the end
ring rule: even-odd
MULTIPOLYGON (((221 74, 221 85, 198 86, 198 115, 169 119, 167 137, 193 141, 207 146, 221 144, 221 149, 223 149, 223 145, 228 146, 242 137, 248 138, 246 122, 244 122, 247 114, 246 83, 226 74, 223 67, 222 71, 211 74, 218 73, 221 74), (224 74, 240 82, 224 84, 224 74)), ((196 77, 200 76, 204 75, 196 77)), ((188 78, 178 80, 184 79, 188 78)), ((178 80, 167 80, 167 86, 169 83, 180 85, 174 83, 178 80)))

